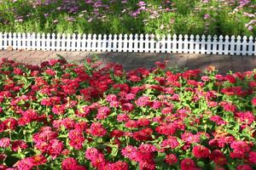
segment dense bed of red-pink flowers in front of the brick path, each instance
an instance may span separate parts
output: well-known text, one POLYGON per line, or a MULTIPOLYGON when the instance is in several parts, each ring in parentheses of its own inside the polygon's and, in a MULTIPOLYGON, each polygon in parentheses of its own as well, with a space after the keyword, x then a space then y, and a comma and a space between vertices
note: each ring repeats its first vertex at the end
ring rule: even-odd
POLYGON ((256 168, 256 72, 0 64, 0 169, 256 168))

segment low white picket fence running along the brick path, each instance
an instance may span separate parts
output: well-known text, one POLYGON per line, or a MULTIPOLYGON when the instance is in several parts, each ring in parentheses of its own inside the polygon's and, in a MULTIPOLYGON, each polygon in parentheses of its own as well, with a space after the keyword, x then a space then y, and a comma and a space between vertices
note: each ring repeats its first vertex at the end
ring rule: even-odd
POLYGON ((0 49, 256 55, 256 38, 0 32, 0 49))

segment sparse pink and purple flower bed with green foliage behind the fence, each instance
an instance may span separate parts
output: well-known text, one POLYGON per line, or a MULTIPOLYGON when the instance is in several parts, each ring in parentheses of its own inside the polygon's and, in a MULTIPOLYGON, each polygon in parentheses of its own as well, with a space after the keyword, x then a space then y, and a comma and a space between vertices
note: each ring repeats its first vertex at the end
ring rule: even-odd
POLYGON ((2 0, 0 31, 256 36, 254 0, 2 0))

